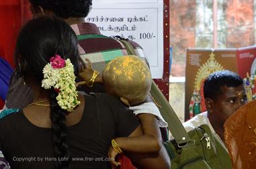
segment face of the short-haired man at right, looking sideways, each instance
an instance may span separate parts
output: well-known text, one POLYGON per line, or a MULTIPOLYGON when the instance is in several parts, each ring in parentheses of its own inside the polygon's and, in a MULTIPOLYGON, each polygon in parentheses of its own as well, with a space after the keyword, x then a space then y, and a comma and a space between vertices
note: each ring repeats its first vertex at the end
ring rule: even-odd
POLYGON ((220 87, 222 94, 212 103, 212 113, 216 121, 224 124, 226 119, 240 107, 245 105, 247 97, 243 85, 239 87, 220 87))

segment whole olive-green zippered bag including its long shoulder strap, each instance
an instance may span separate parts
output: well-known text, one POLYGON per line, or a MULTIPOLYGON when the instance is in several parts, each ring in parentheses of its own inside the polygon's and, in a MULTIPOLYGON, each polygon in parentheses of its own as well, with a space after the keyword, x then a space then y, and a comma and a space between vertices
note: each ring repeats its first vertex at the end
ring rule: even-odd
MULTIPOLYGON (((127 40, 122 38, 119 40, 126 47, 128 54, 135 54, 132 45, 127 40)), ((155 82, 151 86, 151 96, 161 105, 159 111, 175 138, 164 143, 171 159, 171 169, 232 168, 226 148, 208 125, 201 125, 187 133, 155 82)))

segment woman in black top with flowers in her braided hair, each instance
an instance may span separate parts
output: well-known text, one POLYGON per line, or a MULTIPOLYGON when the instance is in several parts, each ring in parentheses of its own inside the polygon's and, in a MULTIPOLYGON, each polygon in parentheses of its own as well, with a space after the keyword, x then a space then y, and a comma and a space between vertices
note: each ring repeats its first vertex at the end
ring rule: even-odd
MULTIPOLYGON (((78 58, 77 37, 65 21, 38 17, 22 28, 15 61, 34 101, 0 114, 0 168, 111 168, 108 149, 118 149, 112 139, 142 135, 118 99, 77 93, 78 58)), ((159 154, 128 156, 137 166, 147 158, 161 163, 159 154)))

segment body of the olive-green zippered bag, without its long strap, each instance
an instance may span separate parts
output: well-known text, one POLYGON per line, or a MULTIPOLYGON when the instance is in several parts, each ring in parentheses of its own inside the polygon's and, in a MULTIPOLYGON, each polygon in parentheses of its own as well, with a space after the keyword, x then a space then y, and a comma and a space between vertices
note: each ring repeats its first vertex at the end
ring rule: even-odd
POLYGON ((175 139, 165 142, 171 168, 232 168, 228 152, 220 140, 204 124, 188 132, 194 142, 185 146, 175 139))

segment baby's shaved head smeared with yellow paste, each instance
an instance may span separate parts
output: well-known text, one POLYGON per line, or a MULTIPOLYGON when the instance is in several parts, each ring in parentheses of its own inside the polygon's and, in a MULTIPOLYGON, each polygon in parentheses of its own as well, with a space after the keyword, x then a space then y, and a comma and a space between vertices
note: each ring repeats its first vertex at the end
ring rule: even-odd
POLYGON ((130 105, 144 102, 151 90, 151 72, 141 58, 134 55, 111 60, 102 73, 106 91, 124 97, 130 105))

